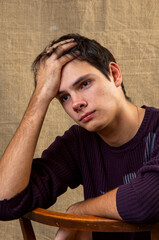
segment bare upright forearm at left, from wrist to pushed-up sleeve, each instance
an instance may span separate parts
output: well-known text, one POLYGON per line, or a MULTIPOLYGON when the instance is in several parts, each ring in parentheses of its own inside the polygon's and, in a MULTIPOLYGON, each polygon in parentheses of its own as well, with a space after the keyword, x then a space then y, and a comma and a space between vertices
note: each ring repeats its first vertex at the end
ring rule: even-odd
POLYGON ((0 161, 0 200, 29 183, 32 159, 49 102, 34 92, 25 115, 0 161))

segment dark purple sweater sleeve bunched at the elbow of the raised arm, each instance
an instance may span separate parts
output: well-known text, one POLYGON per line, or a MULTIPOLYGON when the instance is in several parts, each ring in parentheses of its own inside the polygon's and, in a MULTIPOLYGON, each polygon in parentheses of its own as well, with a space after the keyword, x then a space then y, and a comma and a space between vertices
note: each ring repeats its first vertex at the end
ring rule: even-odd
POLYGON ((77 138, 72 130, 34 159, 29 185, 12 199, 0 201, 0 220, 12 220, 37 208, 48 208, 67 187, 81 184, 77 138))

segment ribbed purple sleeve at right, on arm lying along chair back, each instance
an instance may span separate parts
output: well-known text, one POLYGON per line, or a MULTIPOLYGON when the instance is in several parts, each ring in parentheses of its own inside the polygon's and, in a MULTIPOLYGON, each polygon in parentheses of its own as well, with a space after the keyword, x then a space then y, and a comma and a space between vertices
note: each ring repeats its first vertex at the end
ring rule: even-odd
POLYGON ((159 221, 159 158, 154 157, 131 183, 119 187, 117 209, 130 223, 159 221))

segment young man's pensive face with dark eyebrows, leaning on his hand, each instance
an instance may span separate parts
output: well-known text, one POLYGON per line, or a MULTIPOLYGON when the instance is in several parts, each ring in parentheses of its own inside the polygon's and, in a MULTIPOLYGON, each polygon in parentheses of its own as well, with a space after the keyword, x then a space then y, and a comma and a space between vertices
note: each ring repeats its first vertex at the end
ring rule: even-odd
POLYGON ((62 70, 58 99, 67 114, 88 131, 107 129, 117 115, 119 88, 86 61, 73 60, 62 70))

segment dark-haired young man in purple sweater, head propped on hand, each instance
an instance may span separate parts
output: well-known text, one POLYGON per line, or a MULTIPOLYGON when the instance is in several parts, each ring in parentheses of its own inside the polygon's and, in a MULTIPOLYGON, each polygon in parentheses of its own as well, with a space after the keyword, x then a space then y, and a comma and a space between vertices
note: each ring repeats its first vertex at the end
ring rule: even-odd
MULTIPOLYGON (((70 34, 33 64, 36 87, 0 162, 0 218, 51 206, 82 184, 85 201, 68 209, 126 222, 159 220, 159 110, 134 106, 120 68, 99 43, 70 34), (58 98, 79 125, 33 159, 47 109, 58 98), (62 151, 61 151, 62 150, 62 151)), ((83 234, 83 235, 82 235, 83 234)), ((91 239, 60 230, 56 240, 91 239)), ((149 233, 93 233, 93 239, 150 239, 149 233)))

